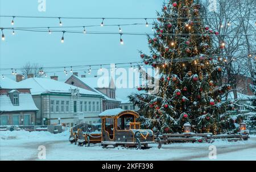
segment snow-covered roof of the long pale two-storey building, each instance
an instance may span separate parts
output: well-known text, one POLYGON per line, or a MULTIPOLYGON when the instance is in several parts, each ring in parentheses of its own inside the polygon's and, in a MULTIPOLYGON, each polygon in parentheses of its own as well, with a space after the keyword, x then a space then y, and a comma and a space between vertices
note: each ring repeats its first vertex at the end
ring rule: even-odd
POLYGON ((28 78, 19 82, 20 85, 30 87, 32 95, 39 95, 42 93, 68 93, 70 89, 79 89, 80 94, 86 95, 100 95, 93 91, 77 88, 64 82, 56 81, 47 78, 28 78))

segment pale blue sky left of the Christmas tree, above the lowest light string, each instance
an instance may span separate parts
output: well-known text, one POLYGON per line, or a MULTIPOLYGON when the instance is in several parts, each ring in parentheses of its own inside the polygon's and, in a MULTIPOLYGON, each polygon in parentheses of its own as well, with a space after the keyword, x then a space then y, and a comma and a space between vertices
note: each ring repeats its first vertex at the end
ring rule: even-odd
MULTIPOLYGON (((1 0, 1 15, 28 16, 84 16, 84 17, 134 17, 155 18, 163 1, 159 0, 46 0, 46 12, 38 11, 38 0, 1 0)), ((59 26, 57 19, 15 18, 13 27, 59 26)), ((62 19, 63 26, 83 26, 100 24, 101 20, 62 19)), ((144 20, 105 20, 105 24, 144 23, 144 20)), ((148 20, 151 23, 151 20, 148 20)), ((0 18, 0 27, 12 27, 11 18, 0 18)), ((77 30, 77 29, 76 29, 77 30)), ((80 28, 82 30, 82 28, 80 28)), ((92 27, 87 31, 113 31, 118 27, 92 27)), ((124 26, 123 32, 148 32, 151 26, 124 26)), ((62 33, 38 33, 4 30, 6 40, 0 41, 0 68, 20 68, 26 62, 43 66, 72 66, 100 63, 139 61, 138 49, 148 52, 146 36, 123 35, 125 45, 119 44, 119 35, 82 35, 65 33, 65 43, 61 44, 62 33)), ((75 72, 75 71, 74 71, 75 72)), ((10 74, 9 72, 1 72, 10 74)), ((81 74, 81 72, 80 72, 81 74)), ((49 74, 50 75, 50 74, 49 74)), ((67 78, 64 73, 56 74, 67 78)), ((11 77, 11 76, 10 76, 11 77)))

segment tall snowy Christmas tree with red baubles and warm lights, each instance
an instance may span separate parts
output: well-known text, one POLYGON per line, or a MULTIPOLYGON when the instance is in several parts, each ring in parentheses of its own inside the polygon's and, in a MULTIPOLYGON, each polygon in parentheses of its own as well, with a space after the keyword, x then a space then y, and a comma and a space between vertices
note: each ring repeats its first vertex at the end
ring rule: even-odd
MULTIPOLYGON (((161 133, 183 132, 190 123, 198 133, 223 133, 234 129, 227 110, 233 104, 222 101, 229 85, 222 85, 223 58, 214 55, 225 48, 213 48, 212 36, 218 32, 204 26, 200 3, 171 0, 163 4, 154 22, 154 37, 148 36, 151 54, 141 53, 144 64, 159 70, 159 91, 148 94, 148 85, 138 87, 141 94, 130 95, 140 108, 142 126, 161 133)), ((148 77, 140 68, 142 77, 148 77)), ((150 83, 147 83, 150 84, 150 83)))

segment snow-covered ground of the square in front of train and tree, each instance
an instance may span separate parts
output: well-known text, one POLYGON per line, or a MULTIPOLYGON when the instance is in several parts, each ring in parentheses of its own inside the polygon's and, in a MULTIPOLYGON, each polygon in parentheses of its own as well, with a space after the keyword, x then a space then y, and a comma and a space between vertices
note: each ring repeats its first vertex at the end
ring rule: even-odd
POLYGON ((68 137, 68 131, 56 135, 49 132, 1 131, 0 160, 39 160, 40 145, 46 147, 46 160, 210 160, 211 145, 216 146, 216 160, 256 160, 255 136, 237 142, 169 144, 163 145, 160 150, 156 144, 146 150, 102 149, 100 144, 77 146, 70 144, 68 137))

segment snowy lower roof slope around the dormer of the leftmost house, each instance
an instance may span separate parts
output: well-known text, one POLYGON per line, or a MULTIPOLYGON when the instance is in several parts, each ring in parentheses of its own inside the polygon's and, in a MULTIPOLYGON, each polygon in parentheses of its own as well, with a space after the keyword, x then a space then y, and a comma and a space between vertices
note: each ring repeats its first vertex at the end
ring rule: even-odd
POLYGON ((19 94, 19 105, 14 106, 11 103, 11 99, 6 94, 0 95, 0 111, 10 112, 10 111, 37 111, 38 108, 35 106, 34 100, 31 94, 20 93, 19 94))

